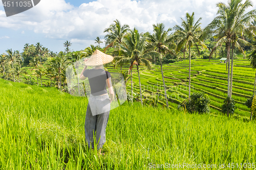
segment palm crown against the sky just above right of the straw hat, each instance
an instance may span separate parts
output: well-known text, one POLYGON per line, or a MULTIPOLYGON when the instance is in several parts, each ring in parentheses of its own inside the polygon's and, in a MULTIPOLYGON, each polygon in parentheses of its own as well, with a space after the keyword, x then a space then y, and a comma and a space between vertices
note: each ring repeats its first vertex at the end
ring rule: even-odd
POLYGON ((119 20, 116 19, 114 20, 114 22, 115 24, 110 25, 109 28, 106 28, 104 30, 104 33, 109 33, 105 36, 105 39, 109 39, 111 41, 111 43, 105 47, 104 53, 109 47, 115 46, 116 44, 121 44, 123 36, 126 34, 127 31, 130 30, 128 25, 121 26, 119 20))

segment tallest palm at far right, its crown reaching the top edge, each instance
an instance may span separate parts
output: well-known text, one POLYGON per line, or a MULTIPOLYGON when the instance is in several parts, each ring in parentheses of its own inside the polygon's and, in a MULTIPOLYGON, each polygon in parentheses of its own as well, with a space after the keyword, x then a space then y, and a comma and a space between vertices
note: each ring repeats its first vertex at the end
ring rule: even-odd
MULTIPOLYGON (((205 34, 215 34, 215 37, 218 37, 217 43, 212 48, 210 56, 216 50, 218 46, 221 46, 223 43, 226 45, 227 49, 227 62, 228 62, 228 97, 231 98, 231 86, 232 86, 232 73, 233 73, 233 55, 231 55, 231 78, 230 78, 230 47, 233 48, 236 46, 238 49, 245 55, 240 43, 250 44, 242 38, 238 38, 240 34, 243 36, 246 26, 256 17, 256 10, 251 10, 245 13, 245 10, 248 7, 252 7, 252 3, 249 0, 246 0, 245 3, 242 3, 242 0, 231 0, 228 2, 228 5, 224 3, 218 3, 217 7, 219 16, 215 17, 214 20, 204 29, 205 34), (231 79, 231 80, 230 80, 231 79)), ((209 56, 209 60, 210 60, 209 56)), ((229 111, 227 111, 227 115, 229 111)))

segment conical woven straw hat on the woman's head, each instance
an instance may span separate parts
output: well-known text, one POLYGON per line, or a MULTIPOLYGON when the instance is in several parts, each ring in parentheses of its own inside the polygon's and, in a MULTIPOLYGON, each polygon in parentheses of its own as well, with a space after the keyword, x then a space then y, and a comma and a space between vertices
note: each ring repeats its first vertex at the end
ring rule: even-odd
POLYGON ((95 50, 90 59, 85 63, 87 66, 103 65, 111 62, 114 59, 111 55, 102 53, 99 50, 95 50))

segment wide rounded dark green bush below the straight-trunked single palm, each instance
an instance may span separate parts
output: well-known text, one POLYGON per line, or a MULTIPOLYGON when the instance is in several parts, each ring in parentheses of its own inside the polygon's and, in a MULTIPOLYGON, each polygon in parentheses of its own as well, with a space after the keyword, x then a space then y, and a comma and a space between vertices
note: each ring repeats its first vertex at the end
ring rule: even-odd
POLYGON ((184 108, 189 113, 209 113, 209 103, 210 99, 207 94, 196 92, 190 95, 190 98, 184 100, 182 104, 178 105, 178 109, 184 108))

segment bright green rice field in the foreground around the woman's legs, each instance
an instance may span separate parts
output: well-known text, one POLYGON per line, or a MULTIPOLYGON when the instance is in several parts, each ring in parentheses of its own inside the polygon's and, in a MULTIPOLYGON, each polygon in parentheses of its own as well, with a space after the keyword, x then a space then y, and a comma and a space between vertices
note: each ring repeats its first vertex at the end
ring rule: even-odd
POLYGON ((84 142, 85 98, 4 80, 0 98, 0 169, 150 169, 183 162, 219 169, 256 161, 252 122, 125 102, 110 112, 102 157, 84 142))

